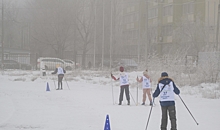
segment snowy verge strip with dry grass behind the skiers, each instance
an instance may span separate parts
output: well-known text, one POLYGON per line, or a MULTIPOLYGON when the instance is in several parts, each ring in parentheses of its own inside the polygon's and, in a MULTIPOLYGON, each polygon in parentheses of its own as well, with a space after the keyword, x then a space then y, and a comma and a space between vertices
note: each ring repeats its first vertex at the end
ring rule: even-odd
MULTIPOLYGON (((117 74, 117 73, 115 73, 117 74)), ((136 77, 141 76, 141 71, 128 72, 130 80, 130 88, 141 89, 141 85, 136 82, 136 77)), ((22 70, 8 70, 3 75, 0 75, 0 79, 9 81, 23 81, 23 82, 46 82, 56 81, 56 75, 51 75, 50 71, 47 72, 47 76, 40 76, 39 71, 22 71, 22 70)), ((67 72, 65 75, 66 81, 85 82, 91 84, 100 85, 113 85, 117 87, 118 82, 113 82, 110 79, 110 72, 108 71, 72 71, 67 72)), ((153 81, 152 88, 156 88, 156 82, 153 81)), ((178 86, 178 83, 176 83, 178 86)), ((220 98, 220 84, 219 83, 201 83, 197 86, 178 86, 181 89, 181 93, 185 95, 193 95, 196 97, 219 99, 220 98)))

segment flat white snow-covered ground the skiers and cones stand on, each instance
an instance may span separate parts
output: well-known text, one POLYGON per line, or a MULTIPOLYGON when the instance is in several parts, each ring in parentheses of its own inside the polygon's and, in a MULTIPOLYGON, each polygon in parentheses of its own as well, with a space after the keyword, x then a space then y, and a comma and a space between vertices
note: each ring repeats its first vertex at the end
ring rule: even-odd
MULTIPOLYGON (((119 106, 119 83, 112 82, 108 72, 68 73, 64 89, 55 90, 56 75, 40 77, 37 71, 6 71, 0 75, 0 130, 104 130, 107 114, 111 130, 145 130, 151 107, 140 105, 142 89, 139 84, 137 96, 137 73, 141 75, 141 72, 128 73, 131 105, 126 105, 124 95, 123 105, 119 106), (46 91, 47 83, 50 91, 46 91)), ((216 84, 180 87, 180 95, 199 125, 176 96, 178 130, 220 129, 220 99, 212 98, 220 93, 218 89, 212 90, 216 87, 216 84), (209 91, 210 96, 204 91, 209 91)), ((158 98, 155 103, 148 130, 160 129, 158 98)))

